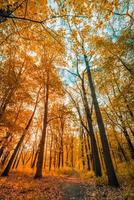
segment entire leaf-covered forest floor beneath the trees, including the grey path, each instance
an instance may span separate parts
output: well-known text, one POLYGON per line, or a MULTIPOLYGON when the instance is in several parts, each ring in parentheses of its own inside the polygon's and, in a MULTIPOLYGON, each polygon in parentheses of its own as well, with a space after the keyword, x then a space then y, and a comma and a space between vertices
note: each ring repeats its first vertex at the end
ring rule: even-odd
MULTIPOLYGON (((132 186, 131 186, 132 187, 132 186)), ((96 186, 94 179, 79 176, 45 176, 33 179, 21 173, 0 177, 0 200, 133 200, 128 186, 96 186)))

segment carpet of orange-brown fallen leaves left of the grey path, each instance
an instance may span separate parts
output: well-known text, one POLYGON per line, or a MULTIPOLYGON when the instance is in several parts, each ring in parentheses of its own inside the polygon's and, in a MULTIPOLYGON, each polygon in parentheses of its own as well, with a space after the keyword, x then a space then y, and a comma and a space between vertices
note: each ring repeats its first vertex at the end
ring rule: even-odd
POLYGON ((39 180, 31 176, 11 174, 0 178, 0 200, 61 200, 62 192, 56 177, 39 180))

